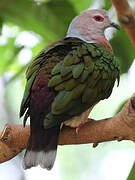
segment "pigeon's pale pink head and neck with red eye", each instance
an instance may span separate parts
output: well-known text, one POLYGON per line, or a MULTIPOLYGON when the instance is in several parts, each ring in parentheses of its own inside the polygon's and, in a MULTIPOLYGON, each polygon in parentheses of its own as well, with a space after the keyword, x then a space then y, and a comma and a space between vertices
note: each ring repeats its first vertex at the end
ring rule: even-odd
POLYGON ((89 9, 72 20, 67 37, 78 37, 86 42, 99 42, 111 49, 104 36, 104 31, 108 27, 119 29, 119 26, 109 19, 107 11, 89 9))

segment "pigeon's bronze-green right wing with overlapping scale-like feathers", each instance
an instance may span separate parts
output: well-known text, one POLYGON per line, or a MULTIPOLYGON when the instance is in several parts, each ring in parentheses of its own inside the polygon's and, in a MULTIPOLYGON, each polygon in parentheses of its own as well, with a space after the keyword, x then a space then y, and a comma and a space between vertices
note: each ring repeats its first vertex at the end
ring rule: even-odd
POLYGON ((116 78, 119 79, 119 65, 104 46, 83 42, 74 47, 51 74, 48 86, 58 92, 52 114, 75 116, 110 96, 116 78))

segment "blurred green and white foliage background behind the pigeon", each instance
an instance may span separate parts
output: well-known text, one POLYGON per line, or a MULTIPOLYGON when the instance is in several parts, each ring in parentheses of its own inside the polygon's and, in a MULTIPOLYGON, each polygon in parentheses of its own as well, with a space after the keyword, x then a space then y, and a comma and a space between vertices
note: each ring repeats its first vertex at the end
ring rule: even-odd
MULTIPOLYGON (((129 0, 135 12, 135 1, 129 0)), ((22 123, 19 107, 25 86, 25 70, 33 56, 65 36, 73 17, 87 8, 103 8, 117 21, 110 0, 0 0, 0 130, 5 123, 22 123)), ((106 32, 121 66, 119 88, 92 112, 96 119, 115 114, 134 92, 135 50, 124 29, 106 32)), ((51 172, 39 167, 24 171, 22 155, 0 165, 1 179, 29 180, 126 180, 135 159, 132 142, 107 142, 59 147, 51 172), (7 173, 8 172, 8 173, 7 173)), ((132 169, 128 180, 133 180, 132 169)))

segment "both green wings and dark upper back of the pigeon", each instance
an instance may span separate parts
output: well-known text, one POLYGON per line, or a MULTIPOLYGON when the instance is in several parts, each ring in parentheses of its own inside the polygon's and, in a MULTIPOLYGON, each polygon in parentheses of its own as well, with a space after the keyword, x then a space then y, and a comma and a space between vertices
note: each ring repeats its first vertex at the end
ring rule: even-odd
POLYGON ((55 95, 45 117, 45 128, 80 115, 110 96, 115 80, 119 82, 116 61, 113 52, 103 45, 88 44, 77 38, 65 38, 42 50, 26 72, 20 116, 29 109, 31 88, 37 76, 48 79, 45 86, 51 92, 53 89, 55 95))

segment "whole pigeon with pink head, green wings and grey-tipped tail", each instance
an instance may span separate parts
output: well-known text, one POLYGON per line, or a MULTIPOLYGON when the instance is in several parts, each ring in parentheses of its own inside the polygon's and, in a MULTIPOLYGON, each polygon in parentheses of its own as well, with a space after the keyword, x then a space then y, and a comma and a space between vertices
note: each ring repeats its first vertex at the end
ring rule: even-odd
POLYGON ((104 10, 86 10, 75 17, 65 38, 31 62, 20 116, 30 117, 30 138, 24 169, 53 167, 61 126, 77 128, 88 121, 95 104, 110 96, 119 64, 104 31, 119 29, 104 10))

